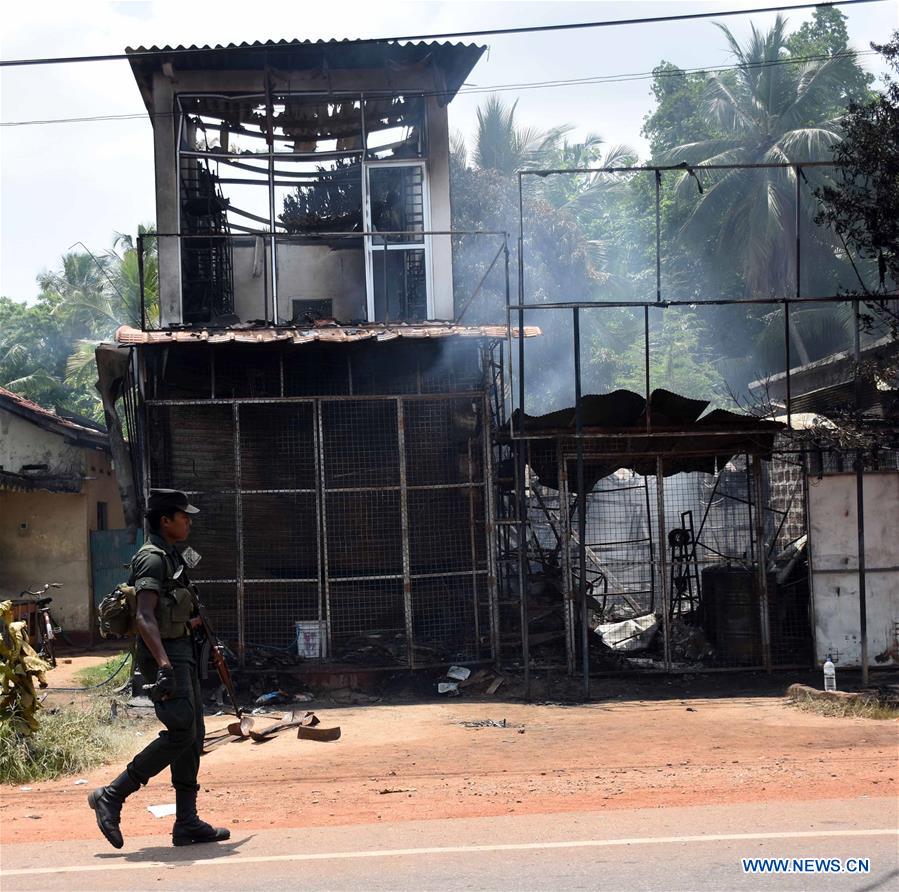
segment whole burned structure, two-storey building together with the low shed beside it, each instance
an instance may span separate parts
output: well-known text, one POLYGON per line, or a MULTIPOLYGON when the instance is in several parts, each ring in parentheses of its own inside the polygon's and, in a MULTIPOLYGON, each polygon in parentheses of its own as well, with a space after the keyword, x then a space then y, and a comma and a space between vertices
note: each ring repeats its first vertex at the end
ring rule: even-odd
POLYGON ((645 393, 582 394, 581 313, 615 303, 529 302, 524 205, 517 303, 508 235, 452 229, 446 106, 482 47, 129 52, 158 232, 142 325, 98 353, 111 442, 132 523, 151 487, 201 508, 193 577, 242 664, 580 664, 588 690, 811 662, 783 426, 650 386, 639 299, 645 393), (573 314, 574 405, 529 416, 538 308, 573 314))

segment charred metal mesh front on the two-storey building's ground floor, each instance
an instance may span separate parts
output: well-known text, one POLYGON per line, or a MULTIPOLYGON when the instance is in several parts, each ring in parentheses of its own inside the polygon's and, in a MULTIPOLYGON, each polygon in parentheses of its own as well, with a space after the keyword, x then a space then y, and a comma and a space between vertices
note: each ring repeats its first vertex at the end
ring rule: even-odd
POLYGON ((491 656, 481 345, 197 350, 147 358, 146 483, 200 508, 193 576, 241 658, 296 656, 298 623, 339 661, 491 656))

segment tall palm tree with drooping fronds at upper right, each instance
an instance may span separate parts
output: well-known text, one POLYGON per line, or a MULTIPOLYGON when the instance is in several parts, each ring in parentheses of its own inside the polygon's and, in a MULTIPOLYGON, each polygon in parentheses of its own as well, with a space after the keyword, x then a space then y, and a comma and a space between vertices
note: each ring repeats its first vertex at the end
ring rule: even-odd
MULTIPOLYGON (((704 114, 718 139, 676 146, 660 159, 685 162, 699 172, 703 194, 683 226, 692 245, 704 240, 724 262, 736 264, 745 293, 764 297, 789 296, 795 288, 794 168, 731 170, 703 167, 727 164, 796 163, 831 157, 840 140, 839 121, 822 117, 834 85, 847 68, 845 58, 789 64, 786 22, 778 16, 767 33, 752 28, 745 47, 723 25, 718 25, 737 60, 732 76, 709 78, 704 114)), ((688 173, 679 187, 692 189, 688 173)), ((814 216, 805 202, 808 220, 814 216)), ((805 234, 804 234, 805 235, 805 234)), ((834 265, 835 249, 809 227, 804 255, 834 265)), ((811 267, 810 267, 811 268, 811 267)))

